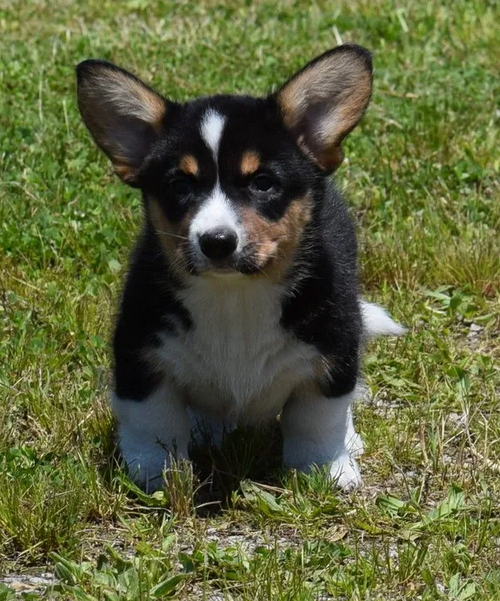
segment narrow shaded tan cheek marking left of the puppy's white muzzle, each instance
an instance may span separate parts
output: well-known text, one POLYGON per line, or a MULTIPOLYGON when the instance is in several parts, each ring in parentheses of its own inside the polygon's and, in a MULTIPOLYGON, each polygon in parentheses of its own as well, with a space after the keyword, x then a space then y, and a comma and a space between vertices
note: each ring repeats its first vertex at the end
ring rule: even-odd
POLYGON ((173 224, 165 216, 158 200, 152 197, 148 198, 148 213, 167 261, 172 269, 181 273, 185 266, 184 252, 192 216, 187 213, 179 223, 173 224))

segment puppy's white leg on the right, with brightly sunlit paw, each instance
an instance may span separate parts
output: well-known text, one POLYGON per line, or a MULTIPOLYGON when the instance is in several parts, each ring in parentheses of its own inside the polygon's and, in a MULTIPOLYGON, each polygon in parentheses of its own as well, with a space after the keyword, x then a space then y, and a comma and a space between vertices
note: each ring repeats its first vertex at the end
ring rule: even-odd
POLYGON ((361 484, 356 460, 346 441, 352 424, 350 406, 356 389, 339 397, 325 397, 319 387, 297 390, 283 409, 283 456, 287 467, 309 471, 329 465, 337 485, 351 489, 361 484))

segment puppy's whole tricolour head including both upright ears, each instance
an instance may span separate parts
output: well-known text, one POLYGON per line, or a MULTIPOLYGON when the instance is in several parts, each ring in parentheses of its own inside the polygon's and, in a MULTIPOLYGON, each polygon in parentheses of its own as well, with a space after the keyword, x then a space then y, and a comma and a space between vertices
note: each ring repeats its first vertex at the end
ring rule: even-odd
POLYGON ((371 95, 370 54, 339 46, 266 98, 178 104, 103 61, 77 67, 78 104, 116 173, 142 189, 148 223, 182 274, 282 278, 318 178, 371 95))

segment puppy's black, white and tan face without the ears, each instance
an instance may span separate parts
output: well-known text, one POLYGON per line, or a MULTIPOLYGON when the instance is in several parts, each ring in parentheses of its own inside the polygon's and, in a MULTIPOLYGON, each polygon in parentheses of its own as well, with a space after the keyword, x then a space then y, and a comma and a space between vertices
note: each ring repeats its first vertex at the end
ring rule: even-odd
POLYGON ((192 274, 279 277, 310 218, 311 161, 268 100, 177 111, 140 176, 166 256, 192 274))

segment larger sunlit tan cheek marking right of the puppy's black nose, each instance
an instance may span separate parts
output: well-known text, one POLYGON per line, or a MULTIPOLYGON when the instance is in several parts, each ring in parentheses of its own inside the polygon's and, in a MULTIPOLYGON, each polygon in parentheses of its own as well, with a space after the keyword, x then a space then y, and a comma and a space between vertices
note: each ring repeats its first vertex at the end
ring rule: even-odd
POLYGON ((249 241, 255 245, 257 264, 266 276, 283 279, 290 268, 302 232, 311 220, 310 196, 290 203, 283 217, 269 221, 252 209, 242 211, 242 220, 249 241))

